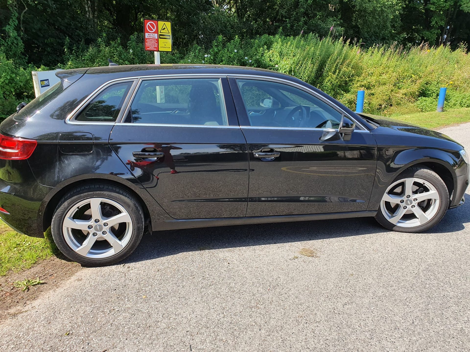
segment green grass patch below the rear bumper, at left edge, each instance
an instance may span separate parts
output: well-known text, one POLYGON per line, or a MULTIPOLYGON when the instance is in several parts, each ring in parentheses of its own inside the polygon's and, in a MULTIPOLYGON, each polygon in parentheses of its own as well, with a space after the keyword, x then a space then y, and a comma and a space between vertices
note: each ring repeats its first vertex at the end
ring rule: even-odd
POLYGON ((52 255, 53 249, 46 238, 21 235, 0 221, 0 276, 10 270, 31 268, 37 261, 52 255))

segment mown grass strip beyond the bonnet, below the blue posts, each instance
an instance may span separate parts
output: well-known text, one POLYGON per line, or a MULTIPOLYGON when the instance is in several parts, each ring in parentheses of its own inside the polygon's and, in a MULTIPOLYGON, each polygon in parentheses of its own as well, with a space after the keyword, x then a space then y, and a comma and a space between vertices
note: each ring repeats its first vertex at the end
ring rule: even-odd
POLYGON ((441 113, 433 111, 430 113, 391 115, 390 117, 430 129, 437 129, 455 123, 470 122, 470 107, 448 110, 441 113))

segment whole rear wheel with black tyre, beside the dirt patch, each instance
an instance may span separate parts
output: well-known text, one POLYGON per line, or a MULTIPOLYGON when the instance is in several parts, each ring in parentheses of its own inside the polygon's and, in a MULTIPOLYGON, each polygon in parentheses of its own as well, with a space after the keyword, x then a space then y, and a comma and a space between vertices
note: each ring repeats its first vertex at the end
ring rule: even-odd
POLYGON ((59 250, 86 266, 105 266, 131 254, 141 241, 144 216, 139 202, 108 185, 90 184, 67 193, 52 218, 59 250))

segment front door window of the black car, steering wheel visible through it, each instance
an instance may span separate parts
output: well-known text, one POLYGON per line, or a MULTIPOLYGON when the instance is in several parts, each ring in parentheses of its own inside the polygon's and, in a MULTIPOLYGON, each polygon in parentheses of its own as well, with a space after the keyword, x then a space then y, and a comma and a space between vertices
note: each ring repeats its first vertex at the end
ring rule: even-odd
POLYGON ((237 79, 251 126, 338 129, 342 114, 289 84, 237 79))

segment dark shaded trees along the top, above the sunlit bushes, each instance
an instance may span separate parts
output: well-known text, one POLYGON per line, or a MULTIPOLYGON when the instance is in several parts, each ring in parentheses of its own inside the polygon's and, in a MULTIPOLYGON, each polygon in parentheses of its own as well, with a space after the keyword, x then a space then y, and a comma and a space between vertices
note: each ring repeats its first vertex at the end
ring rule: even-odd
POLYGON ((0 0, 0 45, 8 58, 55 66, 63 47, 102 33, 127 41, 143 18, 173 22, 174 46, 208 48, 219 35, 316 33, 374 44, 453 48, 470 38, 470 0, 0 0), (21 44, 19 43, 21 41, 21 44))

